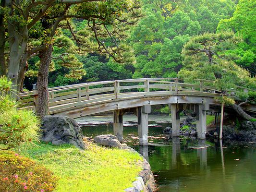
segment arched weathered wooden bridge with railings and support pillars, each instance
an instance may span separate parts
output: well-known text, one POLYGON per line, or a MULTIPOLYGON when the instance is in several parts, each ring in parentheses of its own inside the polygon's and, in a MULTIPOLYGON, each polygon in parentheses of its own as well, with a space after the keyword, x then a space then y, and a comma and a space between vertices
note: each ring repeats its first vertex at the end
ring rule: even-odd
MULTIPOLYGON (((214 82, 193 80, 184 83, 178 78, 143 78, 73 84, 49 88, 49 113, 73 118, 114 111, 114 134, 122 141, 122 116, 134 112, 138 117, 140 144, 147 144, 148 113, 151 105, 170 104, 172 135, 179 136, 180 117, 183 108, 193 108, 197 113, 197 136, 204 139, 206 133, 206 113, 210 106, 219 106, 221 91, 214 82)), ((230 95, 244 92, 244 87, 236 86, 230 95)), ((37 109, 37 89, 19 94, 22 107, 37 109)), ((244 105, 245 110, 255 112, 252 105, 244 105)))

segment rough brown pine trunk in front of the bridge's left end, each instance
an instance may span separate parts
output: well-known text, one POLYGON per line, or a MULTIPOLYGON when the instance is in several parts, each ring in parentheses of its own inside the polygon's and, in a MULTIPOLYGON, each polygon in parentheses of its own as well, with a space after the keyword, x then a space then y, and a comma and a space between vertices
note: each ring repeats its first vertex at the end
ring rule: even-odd
POLYGON ((43 118, 49 115, 49 92, 48 92, 48 73, 52 56, 52 45, 39 53, 40 64, 37 77, 38 105, 37 115, 43 118))

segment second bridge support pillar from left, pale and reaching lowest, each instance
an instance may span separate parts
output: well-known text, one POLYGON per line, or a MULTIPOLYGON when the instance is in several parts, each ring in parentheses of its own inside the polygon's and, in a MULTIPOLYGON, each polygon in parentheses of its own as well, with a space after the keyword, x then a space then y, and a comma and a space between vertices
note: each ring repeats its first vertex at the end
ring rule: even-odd
POLYGON ((138 108, 137 117, 138 117, 138 135, 139 135, 139 144, 147 145, 147 134, 148 134, 148 113, 151 112, 150 105, 146 105, 138 108))

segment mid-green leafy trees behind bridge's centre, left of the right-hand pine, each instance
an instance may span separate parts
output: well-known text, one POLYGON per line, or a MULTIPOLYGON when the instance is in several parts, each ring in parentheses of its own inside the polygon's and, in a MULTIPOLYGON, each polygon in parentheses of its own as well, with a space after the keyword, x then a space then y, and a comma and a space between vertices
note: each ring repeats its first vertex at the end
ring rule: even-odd
POLYGON ((133 77, 176 77, 183 45, 191 36, 215 32, 234 7, 232 0, 144 0, 146 16, 130 38, 136 56, 133 77))

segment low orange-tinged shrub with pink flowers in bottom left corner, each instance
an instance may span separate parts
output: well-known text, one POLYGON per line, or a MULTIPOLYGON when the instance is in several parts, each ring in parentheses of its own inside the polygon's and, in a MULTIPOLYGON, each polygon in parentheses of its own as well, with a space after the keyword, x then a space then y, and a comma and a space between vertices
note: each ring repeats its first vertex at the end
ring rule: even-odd
POLYGON ((53 192, 58 178, 35 161, 0 151, 0 192, 53 192))

